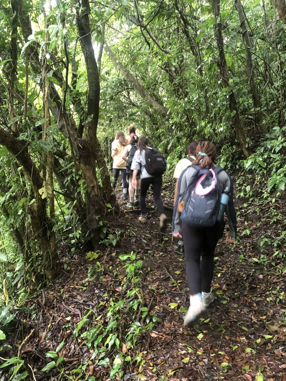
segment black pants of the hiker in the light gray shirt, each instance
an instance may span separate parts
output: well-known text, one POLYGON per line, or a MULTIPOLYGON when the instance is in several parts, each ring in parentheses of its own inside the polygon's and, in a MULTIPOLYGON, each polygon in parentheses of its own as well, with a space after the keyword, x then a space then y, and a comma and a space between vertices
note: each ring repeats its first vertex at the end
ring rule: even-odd
POLYGON ((141 179, 141 186, 140 186, 140 209, 141 214, 146 214, 146 194, 149 188, 149 185, 153 185, 153 195, 154 195, 154 202, 156 204, 156 207, 160 214, 165 213, 163 203, 160 199, 160 193, 162 188, 162 176, 157 177, 146 177, 144 179, 141 179))

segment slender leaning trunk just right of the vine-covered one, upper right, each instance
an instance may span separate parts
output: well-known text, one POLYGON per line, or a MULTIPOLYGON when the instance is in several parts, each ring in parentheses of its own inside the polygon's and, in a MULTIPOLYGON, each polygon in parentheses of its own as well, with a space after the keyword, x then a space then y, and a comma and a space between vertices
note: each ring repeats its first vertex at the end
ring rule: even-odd
POLYGON ((261 133, 266 135, 268 133, 268 130, 263 122, 264 115, 262 112, 260 96, 258 94, 256 83, 254 80, 254 67, 252 64, 252 55, 251 55, 252 44, 251 44, 251 40, 247 30, 247 26, 246 26, 246 18, 244 16, 243 6, 241 5, 240 0, 235 0, 235 6, 239 16, 240 27, 242 29, 242 36, 243 36, 244 47, 246 51, 246 75, 247 75, 247 80, 249 82, 251 95, 254 102, 254 107, 257 113, 257 122, 258 122, 261 133))

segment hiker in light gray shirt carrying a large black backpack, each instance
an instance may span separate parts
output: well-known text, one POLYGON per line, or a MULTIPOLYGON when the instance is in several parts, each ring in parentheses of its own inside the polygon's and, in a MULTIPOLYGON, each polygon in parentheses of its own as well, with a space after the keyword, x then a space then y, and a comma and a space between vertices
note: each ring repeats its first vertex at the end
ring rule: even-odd
POLYGON ((148 139, 145 136, 140 136, 138 140, 138 150, 132 160, 131 169, 132 174, 132 186, 136 187, 136 176, 140 170, 140 208, 141 216, 139 221, 141 223, 147 222, 146 217, 146 194, 149 186, 153 186, 154 202, 160 215, 160 230, 164 230, 167 227, 167 217, 165 215, 164 206, 160 199, 162 188, 162 174, 166 169, 166 159, 162 154, 151 147, 148 147, 148 139))

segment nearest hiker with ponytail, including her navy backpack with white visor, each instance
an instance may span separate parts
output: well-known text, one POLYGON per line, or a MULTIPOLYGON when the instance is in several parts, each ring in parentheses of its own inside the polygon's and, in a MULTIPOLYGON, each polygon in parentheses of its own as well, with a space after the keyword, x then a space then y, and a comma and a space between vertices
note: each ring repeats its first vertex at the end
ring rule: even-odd
POLYGON ((214 164, 217 154, 212 143, 199 142, 196 160, 186 168, 178 181, 172 232, 182 238, 185 248, 186 276, 190 289, 190 307, 184 325, 196 320, 214 296, 210 285, 214 276, 214 251, 225 228, 226 243, 236 239, 236 212, 233 183, 223 168, 214 164))

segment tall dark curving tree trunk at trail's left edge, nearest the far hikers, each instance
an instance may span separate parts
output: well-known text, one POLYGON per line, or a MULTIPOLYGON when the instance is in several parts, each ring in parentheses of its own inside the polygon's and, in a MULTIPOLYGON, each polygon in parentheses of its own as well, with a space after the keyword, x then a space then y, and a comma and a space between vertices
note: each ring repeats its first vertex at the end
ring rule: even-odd
POLYGON ((90 192, 85 194, 85 203, 87 207, 87 223, 88 228, 92 233, 93 246, 96 246, 100 237, 100 227, 98 216, 105 215, 105 203, 115 205, 116 200, 111 196, 112 188, 110 183, 107 167, 102 155, 101 147, 98 143, 96 136, 98 115, 99 115, 99 101, 100 101, 100 82, 98 67, 92 46, 92 38, 89 24, 90 7, 87 0, 82 0, 77 5, 77 29, 80 37, 80 44, 85 58, 85 66, 87 69, 88 80, 88 102, 87 102, 87 116, 88 123, 85 129, 85 136, 80 140, 79 144, 79 159, 82 174, 87 183, 90 192), (96 165, 100 164, 100 165, 96 165), (102 191, 98 184, 96 168, 103 167, 104 187, 102 191), (105 196, 105 197, 104 197, 105 196))

